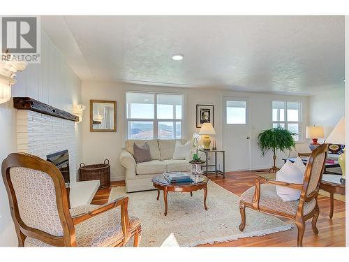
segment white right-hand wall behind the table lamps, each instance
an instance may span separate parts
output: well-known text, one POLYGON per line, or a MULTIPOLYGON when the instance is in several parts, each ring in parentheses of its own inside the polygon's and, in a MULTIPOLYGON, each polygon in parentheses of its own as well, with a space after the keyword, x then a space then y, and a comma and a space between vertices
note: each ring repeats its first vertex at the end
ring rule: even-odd
MULTIPOLYGON (((325 138, 345 112, 345 90, 336 87, 309 97, 309 124, 324 127, 325 138)), ((319 139, 320 142, 323 139, 319 139)))

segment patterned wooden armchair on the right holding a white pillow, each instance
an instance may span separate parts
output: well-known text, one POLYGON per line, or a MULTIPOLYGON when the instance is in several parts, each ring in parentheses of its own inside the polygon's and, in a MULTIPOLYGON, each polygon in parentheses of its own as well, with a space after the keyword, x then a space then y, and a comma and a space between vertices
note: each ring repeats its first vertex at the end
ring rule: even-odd
POLYGON ((306 220, 312 218, 313 232, 318 234, 318 228, 316 228, 319 216, 318 192, 325 168, 327 147, 327 144, 323 144, 312 152, 304 173, 303 184, 290 184, 269 179, 266 180, 266 184, 260 184, 260 180, 256 179, 255 187, 251 187, 241 196, 242 222, 239 226, 240 231, 244 231, 246 225, 245 209, 248 207, 294 220, 298 228, 298 247, 302 247, 306 220), (276 194, 276 185, 301 190, 300 199, 284 202, 276 194))

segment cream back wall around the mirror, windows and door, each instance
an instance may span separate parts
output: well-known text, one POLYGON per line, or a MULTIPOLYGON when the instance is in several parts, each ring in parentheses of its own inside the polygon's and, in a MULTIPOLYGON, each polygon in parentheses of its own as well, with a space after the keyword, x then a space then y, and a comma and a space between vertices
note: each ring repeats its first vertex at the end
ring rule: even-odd
MULTIPOLYGON (((267 168, 272 164, 272 157, 260 157, 257 147, 257 136, 263 129, 272 126, 272 100, 285 99, 303 101, 304 124, 308 123, 308 99, 305 96, 281 96, 272 94, 230 92, 217 89, 202 88, 177 88, 154 87, 147 85, 131 85, 115 82, 82 82, 82 103, 87 106, 82 120, 83 153, 85 163, 101 163, 104 159, 110 159, 111 179, 123 180, 124 168, 119 164, 121 147, 126 140, 125 126, 125 92, 126 91, 172 92, 185 95, 184 103, 184 138, 191 138, 194 132, 198 132, 195 126, 196 104, 214 105, 214 129, 216 130, 217 147, 222 146, 222 105, 223 96, 248 96, 251 99, 251 123, 252 123, 252 168, 267 168), (117 133, 91 133, 89 131, 89 100, 114 100, 117 101, 117 133)), ((304 152, 307 149, 305 143, 298 143, 297 150, 304 152)), ((229 157, 229 156, 228 156, 229 157)), ((279 156, 279 164, 283 163, 279 156)), ((228 159, 226 159, 228 161, 228 159)))

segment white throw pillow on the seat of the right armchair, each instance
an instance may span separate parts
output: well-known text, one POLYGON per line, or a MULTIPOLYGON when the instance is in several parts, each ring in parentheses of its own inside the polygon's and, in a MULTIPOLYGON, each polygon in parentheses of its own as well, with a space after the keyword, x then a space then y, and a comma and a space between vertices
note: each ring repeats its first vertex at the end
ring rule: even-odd
MULTIPOLYGON (((303 166, 300 166, 300 162, 297 159, 297 163, 296 161, 295 163, 286 161, 283 167, 276 172, 276 181, 292 184, 303 184, 305 166, 302 159, 299 158, 303 166)), ((297 189, 290 189, 288 187, 276 186, 276 194, 278 194, 278 196, 285 202, 297 201, 301 196, 301 191, 297 189)))

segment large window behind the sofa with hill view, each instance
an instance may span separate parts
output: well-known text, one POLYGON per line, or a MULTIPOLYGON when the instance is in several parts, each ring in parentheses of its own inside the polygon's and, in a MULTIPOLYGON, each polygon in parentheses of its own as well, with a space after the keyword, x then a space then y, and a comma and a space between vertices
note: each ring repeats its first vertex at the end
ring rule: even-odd
POLYGON ((126 93, 128 139, 180 139, 183 95, 126 93))

